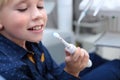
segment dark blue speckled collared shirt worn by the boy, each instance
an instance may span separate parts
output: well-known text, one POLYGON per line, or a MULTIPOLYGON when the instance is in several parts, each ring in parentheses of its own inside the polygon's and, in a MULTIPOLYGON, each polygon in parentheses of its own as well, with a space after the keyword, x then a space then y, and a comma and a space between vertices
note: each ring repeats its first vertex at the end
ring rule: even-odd
POLYGON ((58 66, 41 42, 26 43, 37 55, 44 53, 39 69, 28 59, 27 50, 0 35, 0 75, 6 80, 79 80, 58 66))

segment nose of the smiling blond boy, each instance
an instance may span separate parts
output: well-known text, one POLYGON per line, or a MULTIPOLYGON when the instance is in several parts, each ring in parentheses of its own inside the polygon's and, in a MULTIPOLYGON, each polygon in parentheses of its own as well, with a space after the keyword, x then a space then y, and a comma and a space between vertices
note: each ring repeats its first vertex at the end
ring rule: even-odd
POLYGON ((31 18, 32 20, 39 20, 43 17, 43 11, 42 10, 39 10, 37 8, 34 8, 32 11, 31 11, 31 18))

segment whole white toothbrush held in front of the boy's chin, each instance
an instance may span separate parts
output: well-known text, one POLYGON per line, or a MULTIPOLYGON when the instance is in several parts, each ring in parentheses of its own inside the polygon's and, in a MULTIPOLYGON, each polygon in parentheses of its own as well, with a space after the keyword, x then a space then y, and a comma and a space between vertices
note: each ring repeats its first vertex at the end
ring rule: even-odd
MULTIPOLYGON (((53 36, 58 38, 66 47, 66 50, 68 52, 70 52, 71 54, 73 54, 76 50, 76 46, 73 45, 73 44, 69 44, 68 42, 66 42, 58 33, 54 32, 53 33, 53 36)), ((88 61, 88 64, 87 64, 87 67, 91 67, 92 66, 92 62, 91 60, 89 59, 88 61)))

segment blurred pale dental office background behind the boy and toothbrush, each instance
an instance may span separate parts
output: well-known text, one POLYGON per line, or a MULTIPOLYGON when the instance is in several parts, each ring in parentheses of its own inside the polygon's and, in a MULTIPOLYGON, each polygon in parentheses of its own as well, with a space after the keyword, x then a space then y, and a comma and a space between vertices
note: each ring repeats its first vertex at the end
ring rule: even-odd
POLYGON ((48 23, 42 42, 59 64, 65 46, 53 37, 58 32, 67 42, 102 58, 120 59, 119 0, 45 0, 48 23))

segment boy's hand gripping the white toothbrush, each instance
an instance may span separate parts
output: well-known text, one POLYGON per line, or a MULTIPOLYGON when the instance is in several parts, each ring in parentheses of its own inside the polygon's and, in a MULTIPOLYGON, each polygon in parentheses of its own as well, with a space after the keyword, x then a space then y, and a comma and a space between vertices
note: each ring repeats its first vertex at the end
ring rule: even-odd
POLYGON ((87 51, 80 47, 77 47, 74 54, 70 54, 66 51, 66 66, 64 70, 69 74, 78 77, 80 71, 82 71, 87 66, 88 60, 89 55, 87 51))

